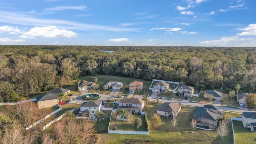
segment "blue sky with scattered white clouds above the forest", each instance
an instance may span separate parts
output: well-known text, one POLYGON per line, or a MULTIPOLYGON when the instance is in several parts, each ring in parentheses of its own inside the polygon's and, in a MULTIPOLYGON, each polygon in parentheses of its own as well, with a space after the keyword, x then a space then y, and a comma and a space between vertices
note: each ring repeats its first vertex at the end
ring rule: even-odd
POLYGON ((1 45, 256 46, 256 0, 0 0, 1 45))

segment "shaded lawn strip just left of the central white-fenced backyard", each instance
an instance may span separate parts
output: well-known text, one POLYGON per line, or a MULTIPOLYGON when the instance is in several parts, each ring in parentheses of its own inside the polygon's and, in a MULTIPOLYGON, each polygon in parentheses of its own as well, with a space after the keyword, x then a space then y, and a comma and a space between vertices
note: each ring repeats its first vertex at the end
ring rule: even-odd
POLYGON ((108 116, 108 118, 104 118, 104 120, 100 122, 96 122, 94 125, 94 128, 98 133, 108 133, 108 124, 110 121, 110 115, 111 115, 111 110, 106 110, 105 116, 108 116))

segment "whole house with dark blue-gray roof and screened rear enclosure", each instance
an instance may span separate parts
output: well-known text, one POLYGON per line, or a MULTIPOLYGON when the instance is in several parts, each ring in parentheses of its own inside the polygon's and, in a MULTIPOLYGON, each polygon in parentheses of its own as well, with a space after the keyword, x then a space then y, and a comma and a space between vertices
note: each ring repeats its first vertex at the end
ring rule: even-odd
POLYGON ((213 130, 218 124, 218 119, 223 118, 223 115, 223 112, 219 111, 215 106, 204 105, 204 107, 197 107, 194 114, 196 128, 213 130))

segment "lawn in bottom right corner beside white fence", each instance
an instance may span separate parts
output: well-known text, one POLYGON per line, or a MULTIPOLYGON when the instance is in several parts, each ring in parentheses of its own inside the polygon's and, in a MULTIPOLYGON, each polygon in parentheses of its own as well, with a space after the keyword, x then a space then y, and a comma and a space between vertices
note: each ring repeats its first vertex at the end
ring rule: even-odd
POLYGON ((256 132, 244 128, 241 121, 233 120, 236 144, 255 144, 256 132))

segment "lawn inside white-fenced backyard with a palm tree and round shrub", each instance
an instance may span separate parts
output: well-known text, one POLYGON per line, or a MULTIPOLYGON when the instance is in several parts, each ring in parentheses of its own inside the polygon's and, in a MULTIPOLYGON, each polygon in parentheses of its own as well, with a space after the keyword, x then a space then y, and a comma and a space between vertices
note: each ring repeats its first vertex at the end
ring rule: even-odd
POLYGON ((110 130, 114 128, 114 126, 117 127, 117 130, 124 130, 124 131, 147 131, 146 130, 146 124, 145 124, 145 116, 144 115, 132 115, 132 118, 130 122, 122 122, 121 120, 111 120, 110 122, 110 130), (136 129, 134 126, 134 120, 136 117, 141 118, 142 125, 140 128, 136 129))

